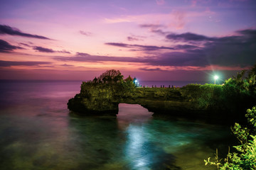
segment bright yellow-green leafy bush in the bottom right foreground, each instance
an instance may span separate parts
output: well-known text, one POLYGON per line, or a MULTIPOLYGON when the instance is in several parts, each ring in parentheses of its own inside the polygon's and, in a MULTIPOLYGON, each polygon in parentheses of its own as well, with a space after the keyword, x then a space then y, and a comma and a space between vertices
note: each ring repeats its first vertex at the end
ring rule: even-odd
POLYGON ((248 126, 243 128, 240 124, 235 123, 232 129, 235 137, 238 138, 240 145, 234 146, 236 152, 228 152, 227 158, 218 159, 218 149, 216 149, 215 161, 210 161, 210 157, 204 160, 207 164, 217 166, 217 169, 234 169, 234 170, 253 170, 256 169, 256 106, 247 109, 248 126))

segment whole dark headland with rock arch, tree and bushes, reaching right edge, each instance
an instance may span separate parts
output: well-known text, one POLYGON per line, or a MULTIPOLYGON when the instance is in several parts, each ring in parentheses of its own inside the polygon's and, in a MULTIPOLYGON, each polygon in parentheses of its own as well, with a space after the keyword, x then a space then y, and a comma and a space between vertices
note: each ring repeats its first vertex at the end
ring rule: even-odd
MULTIPOLYGON (((255 66, 256 67, 256 66, 255 66)), ((121 72, 109 70, 92 81, 82 82, 80 94, 68 101, 78 113, 118 113, 119 103, 137 103, 154 114, 226 120, 243 119, 256 101, 255 67, 223 85, 188 84, 182 88, 136 88, 121 72)), ((232 122, 231 120, 230 122, 232 122)))

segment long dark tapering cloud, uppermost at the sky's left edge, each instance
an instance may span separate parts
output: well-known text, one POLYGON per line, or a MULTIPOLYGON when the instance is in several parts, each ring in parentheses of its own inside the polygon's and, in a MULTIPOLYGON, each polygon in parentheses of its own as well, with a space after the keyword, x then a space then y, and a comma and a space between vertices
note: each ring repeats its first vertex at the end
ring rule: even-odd
POLYGON ((50 38, 43 37, 41 35, 32 35, 28 33, 22 33, 21 30, 11 28, 10 26, 0 25, 0 34, 18 35, 27 38, 39 38, 44 40, 51 40, 50 38))

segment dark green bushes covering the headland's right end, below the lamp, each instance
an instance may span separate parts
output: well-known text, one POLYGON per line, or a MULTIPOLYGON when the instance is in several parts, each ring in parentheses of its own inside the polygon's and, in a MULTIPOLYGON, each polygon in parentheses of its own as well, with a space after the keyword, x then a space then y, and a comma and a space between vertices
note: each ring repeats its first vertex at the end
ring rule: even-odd
POLYGON ((182 89, 198 108, 208 108, 244 120, 242 113, 256 102, 256 65, 225 80, 223 85, 188 84, 182 89))

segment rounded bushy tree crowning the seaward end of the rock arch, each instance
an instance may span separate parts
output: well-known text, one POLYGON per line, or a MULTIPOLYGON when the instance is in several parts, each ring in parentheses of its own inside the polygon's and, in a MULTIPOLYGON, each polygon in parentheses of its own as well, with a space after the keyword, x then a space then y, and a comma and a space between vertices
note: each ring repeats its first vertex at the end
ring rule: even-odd
POLYGON ((104 72, 97 78, 99 83, 117 83, 121 82, 123 79, 123 75, 119 70, 110 69, 107 72, 104 72))

